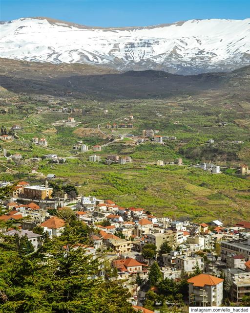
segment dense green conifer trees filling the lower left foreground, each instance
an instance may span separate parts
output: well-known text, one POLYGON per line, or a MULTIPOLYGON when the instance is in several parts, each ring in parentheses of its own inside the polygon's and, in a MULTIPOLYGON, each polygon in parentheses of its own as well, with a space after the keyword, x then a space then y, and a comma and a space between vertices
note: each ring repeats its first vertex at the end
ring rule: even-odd
POLYGON ((66 221, 60 237, 28 254, 25 238, 18 246, 14 236, 2 236, 0 312, 132 313, 128 291, 100 277, 102 255, 86 253, 91 232, 78 221, 66 221))

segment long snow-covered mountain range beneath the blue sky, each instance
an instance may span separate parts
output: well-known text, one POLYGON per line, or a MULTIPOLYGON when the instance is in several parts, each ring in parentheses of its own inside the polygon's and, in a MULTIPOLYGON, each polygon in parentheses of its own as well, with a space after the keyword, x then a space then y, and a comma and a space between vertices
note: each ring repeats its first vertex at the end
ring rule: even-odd
POLYGON ((250 64, 250 19, 100 28, 48 18, 0 25, 0 57, 194 74, 250 64))

